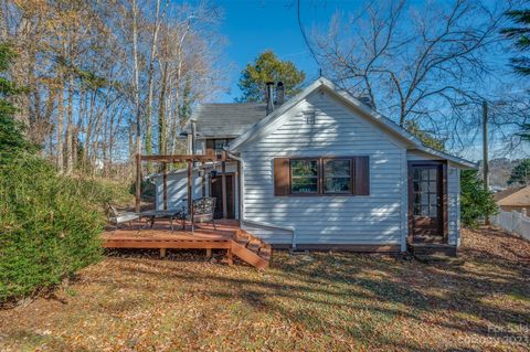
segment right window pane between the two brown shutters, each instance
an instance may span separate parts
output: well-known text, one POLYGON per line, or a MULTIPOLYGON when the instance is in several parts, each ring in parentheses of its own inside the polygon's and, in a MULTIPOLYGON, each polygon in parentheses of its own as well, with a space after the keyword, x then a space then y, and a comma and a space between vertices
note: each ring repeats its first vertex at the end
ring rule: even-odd
POLYGON ((352 192, 351 159, 324 159, 324 193, 352 192))

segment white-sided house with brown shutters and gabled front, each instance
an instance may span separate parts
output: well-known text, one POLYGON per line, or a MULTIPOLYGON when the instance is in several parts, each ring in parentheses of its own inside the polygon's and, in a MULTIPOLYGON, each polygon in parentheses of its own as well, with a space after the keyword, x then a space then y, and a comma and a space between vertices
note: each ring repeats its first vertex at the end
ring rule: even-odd
MULTIPOLYGON (((218 199, 218 217, 275 247, 404 252, 459 246, 459 172, 467 160, 425 147, 369 105, 321 77, 284 102, 203 104, 186 127, 193 198, 218 199)), ((179 207, 187 171, 156 178, 157 207, 179 207)))

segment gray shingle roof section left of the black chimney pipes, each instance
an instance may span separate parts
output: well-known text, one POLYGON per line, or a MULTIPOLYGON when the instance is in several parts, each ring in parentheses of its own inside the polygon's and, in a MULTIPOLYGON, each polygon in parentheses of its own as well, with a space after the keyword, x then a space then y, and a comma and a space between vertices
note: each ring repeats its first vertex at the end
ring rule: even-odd
MULTIPOLYGON (((266 104, 199 104, 191 116, 200 137, 239 137, 265 117, 266 104)), ((190 132, 188 122, 184 131, 190 132)))

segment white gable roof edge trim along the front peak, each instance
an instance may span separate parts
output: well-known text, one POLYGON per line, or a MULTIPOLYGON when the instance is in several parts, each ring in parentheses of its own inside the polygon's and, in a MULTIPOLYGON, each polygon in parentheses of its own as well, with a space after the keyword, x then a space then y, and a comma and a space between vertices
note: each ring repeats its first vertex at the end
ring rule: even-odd
POLYGON ((409 132, 406 129, 399 126, 391 119, 384 117, 383 115, 379 114, 378 111, 371 109, 369 106, 363 104, 361 100, 354 98, 349 93, 338 88, 333 83, 331 83, 329 79, 325 77, 318 78, 317 81, 311 83, 308 87, 306 87, 303 92, 300 92, 298 95, 294 96, 292 99, 283 104, 280 107, 273 110, 267 117, 261 119, 258 122, 252 126, 252 128, 250 128, 239 138, 230 142, 227 146, 227 150, 232 152, 236 152, 243 145, 247 143, 251 140, 254 140, 258 136, 258 134, 262 132, 268 125, 273 124, 282 115, 287 113, 298 103, 300 103, 307 96, 309 96, 311 93, 318 89, 326 89, 326 92, 338 97, 340 100, 344 102, 347 105, 351 106, 354 109, 360 110, 361 113, 367 115, 375 125, 389 130, 390 132, 392 132, 393 135, 398 136, 403 141, 405 141, 411 147, 411 149, 417 149, 427 154, 449 160, 456 166, 464 169, 477 169, 477 164, 471 161, 424 146, 423 142, 417 137, 409 132))

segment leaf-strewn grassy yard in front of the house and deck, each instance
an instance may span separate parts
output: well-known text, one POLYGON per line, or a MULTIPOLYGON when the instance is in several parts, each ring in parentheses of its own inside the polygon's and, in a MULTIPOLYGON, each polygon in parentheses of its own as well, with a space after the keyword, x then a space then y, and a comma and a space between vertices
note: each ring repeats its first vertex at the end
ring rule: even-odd
POLYGON ((0 311, 1 351, 528 351, 530 244, 464 231, 463 264, 277 252, 272 268, 107 257, 0 311))

